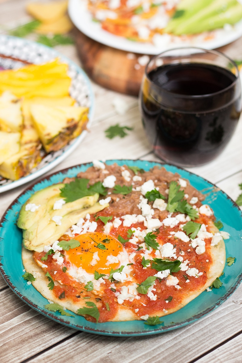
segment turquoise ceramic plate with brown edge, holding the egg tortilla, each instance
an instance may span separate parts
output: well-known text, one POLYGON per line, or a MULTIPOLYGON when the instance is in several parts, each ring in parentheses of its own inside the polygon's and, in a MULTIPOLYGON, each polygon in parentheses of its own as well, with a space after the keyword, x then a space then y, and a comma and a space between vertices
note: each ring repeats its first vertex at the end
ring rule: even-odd
MULTIPOLYGON (((149 170, 158 163, 141 160, 109 160, 107 164, 118 163, 138 166, 149 170)), ((230 233, 230 239, 225 241, 226 256, 236 257, 232 266, 225 266, 221 276, 223 283, 220 289, 204 291, 188 305, 176 313, 162 317, 162 325, 149 326, 143 321, 91 323, 85 318, 62 316, 60 313, 52 313, 44 309, 47 300, 42 297, 32 285, 27 285, 21 277, 24 266, 21 260, 22 232, 16 226, 16 221, 21 205, 33 192, 45 188, 48 185, 59 183, 63 178, 76 176, 80 171, 85 171, 92 164, 82 164, 72 167, 38 181, 32 187, 26 189, 5 212, 0 224, 0 271, 11 289, 29 306, 48 316, 49 318, 75 329, 89 333, 129 336, 150 335, 163 333, 190 324, 225 301, 238 287, 242 279, 242 212, 238 206, 221 190, 200 176, 189 173, 172 165, 164 165, 168 171, 178 172, 182 178, 190 180, 190 183, 206 195, 204 203, 209 204, 214 211, 217 220, 223 223, 223 230, 230 233)))

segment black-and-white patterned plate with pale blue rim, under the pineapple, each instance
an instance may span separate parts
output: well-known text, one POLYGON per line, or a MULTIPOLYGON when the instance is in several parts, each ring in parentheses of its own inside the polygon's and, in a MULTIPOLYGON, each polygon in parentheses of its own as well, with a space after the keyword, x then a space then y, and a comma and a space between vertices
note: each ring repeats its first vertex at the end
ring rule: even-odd
MULTIPOLYGON (((89 107, 90 127, 94 113, 94 95, 91 89, 89 78, 74 62, 62 56, 56 50, 46 47, 29 40, 0 35, 0 67, 4 69, 20 68, 27 63, 40 64, 50 61, 54 58, 60 58, 69 66, 69 76, 71 77, 70 95, 75 98, 77 103, 83 107, 89 107)), ((61 163, 73 150, 81 143, 87 131, 83 131, 80 136, 71 140, 65 147, 59 151, 50 152, 33 168, 31 173, 19 180, 12 181, 1 178, 0 176, 0 193, 10 189, 19 187, 22 184, 38 178, 47 171, 53 169, 57 164, 61 163)))

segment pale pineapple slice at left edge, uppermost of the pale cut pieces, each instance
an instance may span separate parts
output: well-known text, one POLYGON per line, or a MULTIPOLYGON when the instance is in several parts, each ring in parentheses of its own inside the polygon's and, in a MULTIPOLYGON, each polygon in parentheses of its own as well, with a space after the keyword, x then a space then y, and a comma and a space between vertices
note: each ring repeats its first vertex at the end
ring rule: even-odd
POLYGON ((21 100, 5 91, 0 97, 0 130, 20 132, 22 123, 21 100))

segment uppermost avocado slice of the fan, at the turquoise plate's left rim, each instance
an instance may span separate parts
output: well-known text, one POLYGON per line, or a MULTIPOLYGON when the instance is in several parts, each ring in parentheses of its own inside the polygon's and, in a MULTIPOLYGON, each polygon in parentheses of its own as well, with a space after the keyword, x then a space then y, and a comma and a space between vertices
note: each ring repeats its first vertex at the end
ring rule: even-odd
POLYGON ((34 223, 38 222, 40 218, 45 215, 47 203, 53 196, 59 196, 61 188, 63 188, 65 184, 54 184, 50 187, 41 189, 35 192, 22 206, 21 211, 19 213, 19 218, 17 221, 17 226, 22 229, 30 228, 34 223), (26 211, 25 207, 27 204, 33 203, 35 205, 40 205, 35 212, 26 211))

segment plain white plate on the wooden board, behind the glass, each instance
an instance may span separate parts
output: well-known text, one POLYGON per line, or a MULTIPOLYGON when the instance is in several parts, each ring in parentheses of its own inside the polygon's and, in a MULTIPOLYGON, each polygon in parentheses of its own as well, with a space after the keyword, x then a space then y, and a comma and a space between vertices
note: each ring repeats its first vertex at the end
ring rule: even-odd
POLYGON ((127 52, 140 54, 159 54, 167 49, 179 46, 197 46, 205 49, 215 49, 229 44, 242 36, 242 20, 235 24, 231 30, 217 29, 209 34, 214 34, 213 39, 206 40, 208 33, 201 33, 192 37, 172 36, 162 46, 155 46, 150 43, 141 43, 127 40, 108 33, 101 28, 101 24, 92 20, 91 13, 87 10, 86 0, 69 0, 69 16, 75 26, 88 37, 99 43, 111 46, 112 48, 126 50, 127 52))

